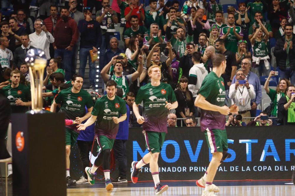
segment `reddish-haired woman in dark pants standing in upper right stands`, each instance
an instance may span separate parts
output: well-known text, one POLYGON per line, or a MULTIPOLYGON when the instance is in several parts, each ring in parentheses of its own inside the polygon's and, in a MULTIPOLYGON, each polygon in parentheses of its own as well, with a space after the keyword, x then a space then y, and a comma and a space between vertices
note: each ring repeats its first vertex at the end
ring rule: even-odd
POLYGON ((248 40, 250 22, 250 19, 248 18, 248 9, 250 8, 247 8, 244 2, 239 3, 238 7, 239 11, 235 10, 237 12, 235 15, 235 21, 237 25, 241 26, 243 39, 248 40))

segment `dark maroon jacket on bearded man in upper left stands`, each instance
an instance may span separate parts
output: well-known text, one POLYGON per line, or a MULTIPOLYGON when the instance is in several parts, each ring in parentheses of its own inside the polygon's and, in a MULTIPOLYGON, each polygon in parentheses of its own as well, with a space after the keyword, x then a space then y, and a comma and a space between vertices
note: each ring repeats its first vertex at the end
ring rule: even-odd
POLYGON ((65 49, 68 46, 74 46, 79 38, 77 23, 71 17, 64 22, 59 20, 54 29, 54 43, 58 49, 65 49))

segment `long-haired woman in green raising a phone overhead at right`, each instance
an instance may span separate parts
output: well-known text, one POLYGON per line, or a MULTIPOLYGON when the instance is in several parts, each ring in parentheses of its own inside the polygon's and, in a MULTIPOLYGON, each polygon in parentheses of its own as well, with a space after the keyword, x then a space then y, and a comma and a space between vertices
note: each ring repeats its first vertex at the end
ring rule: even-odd
MULTIPOLYGON (((281 97, 286 96, 286 89, 288 86, 290 86, 290 82, 288 79, 283 78, 280 80, 278 86, 276 87, 276 90, 271 89, 268 87, 269 81, 272 76, 275 76, 275 72, 271 71, 268 78, 266 79, 264 83, 264 89, 266 93, 268 94, 268 97, 271 98, 271 111, 270 116, 271 117, 277 117, 278 116, 278 101, 281 99, 281 97)), ((276 122, 274 122, 276 124, 276 122)))

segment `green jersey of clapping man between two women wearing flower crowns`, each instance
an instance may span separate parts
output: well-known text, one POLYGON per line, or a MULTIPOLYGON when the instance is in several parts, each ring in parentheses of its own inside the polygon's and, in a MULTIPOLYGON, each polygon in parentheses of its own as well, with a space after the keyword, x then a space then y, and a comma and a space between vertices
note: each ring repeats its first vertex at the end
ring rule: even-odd
MULTIPOLYGON (((236 53, 238 51, 238 46, 237 46, 237 37, 234 34, 234 28, 230 26, 223 27, 220 31, 220 36, 223 36, 224 34, 227 33, 228 28, 230 28, 230 34, 227 35, 225 39, 225 48, 233 53, 236 53)), ((243 36, 242 29, 240 26, 236 26, 236 32, 240 36, 243 36)))

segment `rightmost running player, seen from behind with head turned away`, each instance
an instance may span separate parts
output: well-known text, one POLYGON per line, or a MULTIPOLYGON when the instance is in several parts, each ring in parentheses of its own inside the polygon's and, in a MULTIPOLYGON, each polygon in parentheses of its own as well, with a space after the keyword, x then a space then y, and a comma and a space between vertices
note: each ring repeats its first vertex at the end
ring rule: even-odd
POLYGON ((219 188, 212 184, 218 166, 228 157, 227 134, 225 130, 225 115, 238 112, 234 104, 224 105, 225 88, 221 74, 226 68, 226 59, 222 54, 212 58, 213 69, 201 85, 195 100, 195 105, 201 108, 201 130, 204 131, 209 149, 213 155, 205 175, 196 181, 196 185, 205 188, 202 196, 216 196, 219 188))

